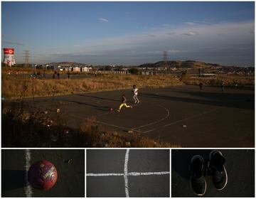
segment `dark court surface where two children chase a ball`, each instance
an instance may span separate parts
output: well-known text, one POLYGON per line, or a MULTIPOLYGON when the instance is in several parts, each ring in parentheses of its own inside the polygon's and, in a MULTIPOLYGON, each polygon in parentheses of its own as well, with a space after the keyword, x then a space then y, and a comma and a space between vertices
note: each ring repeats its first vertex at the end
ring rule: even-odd
POLYGON ((104 130, 143 134, 181 147, 254 147, 255 92, 252 89, 174 86, 139 90, 141 104, 117 109, 122 94, 132 104, 130 90, 39 97, 29 104, 60 108, 69 125, 79 127, 94 117, 104 130))

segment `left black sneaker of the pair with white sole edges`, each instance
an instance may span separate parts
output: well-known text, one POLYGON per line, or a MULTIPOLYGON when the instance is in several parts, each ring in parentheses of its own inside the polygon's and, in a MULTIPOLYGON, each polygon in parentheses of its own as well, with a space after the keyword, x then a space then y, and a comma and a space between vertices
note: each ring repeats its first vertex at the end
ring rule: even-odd
POLYGON ((206 193, 206 166, 202 156, 193 156, 189 166, 191 171, 191 188, 196 195, 206 193))

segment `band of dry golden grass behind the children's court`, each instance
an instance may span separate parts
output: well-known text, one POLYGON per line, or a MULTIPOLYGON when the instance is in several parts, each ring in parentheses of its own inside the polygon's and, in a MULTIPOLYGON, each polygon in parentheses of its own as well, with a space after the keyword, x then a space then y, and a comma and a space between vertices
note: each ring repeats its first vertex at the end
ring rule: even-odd
POLYGON ((171 75, 97 75, 84 79, 38 80, 2 75, 2 95, 6 98, 43 97, 69 95, 81 92, 97 92, 137 87, 166 87, 182 85, 171 75))

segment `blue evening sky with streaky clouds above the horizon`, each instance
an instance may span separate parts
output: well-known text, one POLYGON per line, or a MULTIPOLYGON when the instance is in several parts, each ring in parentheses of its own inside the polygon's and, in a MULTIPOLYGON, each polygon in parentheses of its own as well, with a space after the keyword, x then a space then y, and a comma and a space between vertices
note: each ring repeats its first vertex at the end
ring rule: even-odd
MULTIPOLYGON (((255 2, 1 1, 1 47, 16 63, 139 65, 198 60, 254 66, 255 2)), ((3 58, 3 50, 2 58, 3 58)))

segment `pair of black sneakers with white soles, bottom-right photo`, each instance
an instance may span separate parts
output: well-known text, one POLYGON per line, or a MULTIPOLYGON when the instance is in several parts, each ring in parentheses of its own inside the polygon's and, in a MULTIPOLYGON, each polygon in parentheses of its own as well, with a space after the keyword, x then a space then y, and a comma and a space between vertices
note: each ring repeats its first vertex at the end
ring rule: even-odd
POLYGON ((206 175, 211 175, 213 185, 217 190, 223 190, 228 183, 228 174, 224 166, 225 158, 218 150, 210 152, 208 165, 202 156, 196 155, 191 158, 189 169, 191 171, 191 188, 196 195, 206 193, 206 175))

